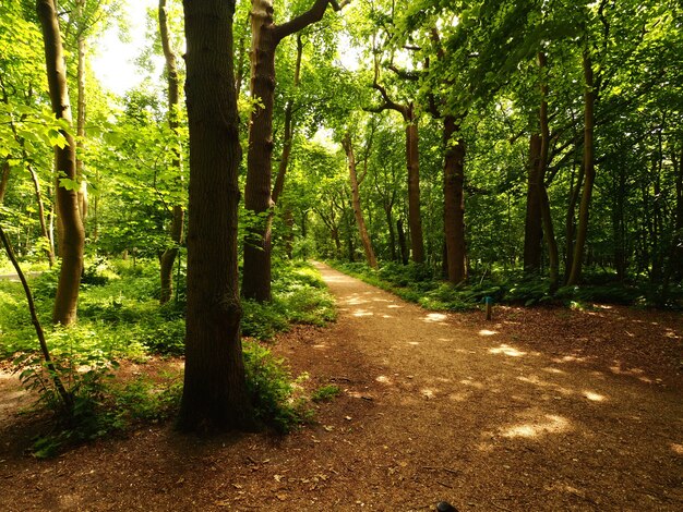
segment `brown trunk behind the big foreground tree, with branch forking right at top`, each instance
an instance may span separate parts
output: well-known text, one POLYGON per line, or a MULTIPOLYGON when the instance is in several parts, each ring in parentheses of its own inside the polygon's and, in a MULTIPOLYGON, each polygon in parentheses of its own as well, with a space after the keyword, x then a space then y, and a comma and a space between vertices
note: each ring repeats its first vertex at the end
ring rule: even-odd
POLYGON ((244 207, 253 216, 244 236, 242 295, 259 302, 271 300, 271 222, 268 211, 273 160, 273 102, 275 95, 275 50, 285 37, 323 17, 329 0, 316 0, 293 20, 276 25, 273 1, 252 0, 251 97, 257 98, 249 123, 244 207))

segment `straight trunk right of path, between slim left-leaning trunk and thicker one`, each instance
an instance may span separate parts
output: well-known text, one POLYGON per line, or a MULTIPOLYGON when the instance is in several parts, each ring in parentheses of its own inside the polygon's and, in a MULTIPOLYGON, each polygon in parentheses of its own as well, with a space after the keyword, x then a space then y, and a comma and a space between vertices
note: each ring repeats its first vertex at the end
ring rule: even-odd
POLYGON ((424 261, 424 242, 422 237, 422 216, 420 214, 420 159, 418 154, 418 122, 412 105, 406 121, 406 162, 408 167, 408 225, 410 228, 410 248, 412 260, 424 261))

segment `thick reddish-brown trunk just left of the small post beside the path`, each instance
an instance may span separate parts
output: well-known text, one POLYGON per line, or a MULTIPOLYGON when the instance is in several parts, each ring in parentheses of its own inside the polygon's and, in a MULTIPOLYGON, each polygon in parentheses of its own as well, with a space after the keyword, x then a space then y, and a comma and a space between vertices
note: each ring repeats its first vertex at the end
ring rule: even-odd
POLYGON ((457 138, 459 126, 453 115, 443 119, 444 144, 444 233, 448 281, 467 279, 465 248, 465 141, 457 138))

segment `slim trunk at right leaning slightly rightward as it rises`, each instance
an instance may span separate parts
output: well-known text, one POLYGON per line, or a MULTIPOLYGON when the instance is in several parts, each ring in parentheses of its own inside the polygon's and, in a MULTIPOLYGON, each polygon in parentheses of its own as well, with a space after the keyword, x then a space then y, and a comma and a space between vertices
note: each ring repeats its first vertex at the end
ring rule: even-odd
POLYGON ((590 197, 592 195, 592 185, 596 180, 595 168, 595 148, 594 148, 594 130, 595 130, 595 102, 596 92, 594 89, 592 62, 588 50, 584 50, 584 188, 582 192, 582 202, 578 210, 578 225, 576 228, 576 243, 574 244, 574 260, 572 261, 572 271, 567 284, 576 284, 580 280, 582 267, 584 261, 584 248, 586 246, 586 237, 588 234, 588 214, 590 208, 590 197))

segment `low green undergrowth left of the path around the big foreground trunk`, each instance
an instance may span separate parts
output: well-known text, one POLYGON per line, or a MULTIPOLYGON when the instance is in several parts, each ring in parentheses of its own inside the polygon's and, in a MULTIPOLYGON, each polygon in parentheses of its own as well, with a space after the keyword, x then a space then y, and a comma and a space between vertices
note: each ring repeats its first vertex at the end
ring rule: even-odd
MULTIPOLYGON (((43 319, 50 318, 58 276, 55 268, 31 278, 43 319)), ((35 440, 36 456, 175 415, 182 391, 180 370, 123 381, 115 376, 122 359, 144 363, 152 356, 183 354, 184 281, 176 287, 176 300, 161 306, 156 261, 87 261, 77 324, 63 329, 44 320, 57 371, 73 401, 67 410, 37 352, 21 285, 0 281, 0 358, 14 362, 24 386, 39 397, 36 407, 53 414, 51 429, 35 440)), ((311 410, 301 387, 305 376, 295 379, 286 363, 260 341, 291 324, 324 325, 334 318, 332 295, 317 271, 301 261, 274 266, 271 303, 243 303, 242 332, 254 339, 243 341, 247 383, 256 420, 264 427, 287 432, 309 420, 311 410)))

